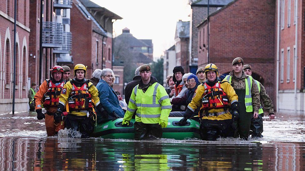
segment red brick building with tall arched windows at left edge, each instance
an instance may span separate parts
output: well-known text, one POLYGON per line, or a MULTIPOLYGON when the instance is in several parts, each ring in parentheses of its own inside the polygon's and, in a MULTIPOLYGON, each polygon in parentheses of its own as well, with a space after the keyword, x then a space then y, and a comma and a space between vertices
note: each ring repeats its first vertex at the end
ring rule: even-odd
MULTIPOLYGON (((29 0, 17 1, 15 112, 28 106, 29 0)), ((0 113, 12 111, 14 1, 0 0, 0 113)))

